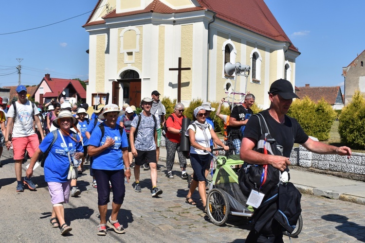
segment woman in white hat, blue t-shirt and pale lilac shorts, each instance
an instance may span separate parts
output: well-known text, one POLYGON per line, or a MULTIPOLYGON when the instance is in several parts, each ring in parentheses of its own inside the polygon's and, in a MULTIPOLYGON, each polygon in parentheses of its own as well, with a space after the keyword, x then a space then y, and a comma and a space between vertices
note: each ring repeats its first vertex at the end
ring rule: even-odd
POLYGON ((68 179, 71 157, 68 151, 74 151, 75 159, 80 159, 84 155, 81 139, 71 131, 75 128, 77 119, 73 117, 71 111, 63 110, 53 121, 53 125, 59 128, 49 133, 39 145, 36 153, 31 159, 29 168, 26 172, 30 177, 33 174, 33 168, 37 162, 38 156, 49 151, 44 161, 44 179, 48 184, 48 190, 51 194, 53 204, 51 225, 52 227, 61 227, 61 234, 64 235, 72 230, 65 223, 63 204, 69 202, 71 179, 68 179), (56 137, 53 143, 54 136, 56 137), (53 143, 53 144, 52 144, 53 143), (50 148, 52 144, 52 147, 50 148), (58 221, 58 222, 57 222, 58 221))

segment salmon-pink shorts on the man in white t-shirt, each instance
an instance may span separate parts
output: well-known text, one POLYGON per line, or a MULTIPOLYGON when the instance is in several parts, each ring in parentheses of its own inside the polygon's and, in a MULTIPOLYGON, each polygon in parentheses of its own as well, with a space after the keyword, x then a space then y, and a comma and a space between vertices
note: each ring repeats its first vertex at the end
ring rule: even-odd
POLYGON ((28 151, 29 157, 32 157, 39 147, 38 135, 33 134, 28 137, 13 138, 11 140, 13 144, 14 159, 23 159, 25 150, 28 151))

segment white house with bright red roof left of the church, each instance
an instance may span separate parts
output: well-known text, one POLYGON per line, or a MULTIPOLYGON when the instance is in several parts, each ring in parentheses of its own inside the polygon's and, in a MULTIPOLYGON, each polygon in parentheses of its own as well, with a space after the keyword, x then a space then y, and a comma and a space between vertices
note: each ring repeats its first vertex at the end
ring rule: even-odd
POLYGON ((31 97, 39 104, 48 103, 52 99, 69 102, 71 98, 76 103, 85 103, 86 90, 77 79, 51 78, 51 74, 47 73, 31 97))

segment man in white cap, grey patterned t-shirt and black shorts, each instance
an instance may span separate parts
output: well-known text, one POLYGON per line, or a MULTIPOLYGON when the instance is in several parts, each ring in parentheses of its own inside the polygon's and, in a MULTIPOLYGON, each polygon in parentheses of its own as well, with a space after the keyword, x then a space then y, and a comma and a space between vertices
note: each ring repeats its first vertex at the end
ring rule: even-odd
POLYGON ((162 190, 157 188, 156 129, 158 128, 158 124, 156 118, 150 111, 152 99, 148 97, 144 98, 141 101, 140 106, 143 111, 140 113, 140 117, 136 116, 133 119, 129 132, 130 148, 135 157, 133 170, 136 184, 134 186, 134 191, 142 191, 139 184, 140 167, 145 163, 145 160, 147 160, 151 170, 152 196, 157 197, 162 194, 162 190), (138 122, 139 119, 141 119, 140 122, 138 122), (137 133, 135 134, 136 129, 137 133))

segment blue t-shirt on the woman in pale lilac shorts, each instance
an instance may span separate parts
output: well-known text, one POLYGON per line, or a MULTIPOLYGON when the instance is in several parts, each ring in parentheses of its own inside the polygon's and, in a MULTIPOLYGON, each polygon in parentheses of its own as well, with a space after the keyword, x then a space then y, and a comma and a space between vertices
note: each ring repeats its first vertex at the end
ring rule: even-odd
MULTIPOLYGON (((46 182, 67 182, 67 174, 69 173, 70 160, 69 156, 65 151, 65 144, 61 138, 61 135, 57 131, 57 139, 52 145, 50 152, 44 161, 44 179, 46 182)), ((40 151, 46 152, 48 147, 53 141, 53 133, 47 134, 43 141, 39 145, 40 151)), ((63 136, 63 135, 62 135, 63 136)), ((70 136, 73 136, 72 134, 70 136)), ((76 152, 84 153, 84 148, 82 147, 80 137, 77 135, 77 141, 73 140, 70 136, 63 136, 65 139, 68 149, 75 149, 76 152)))

